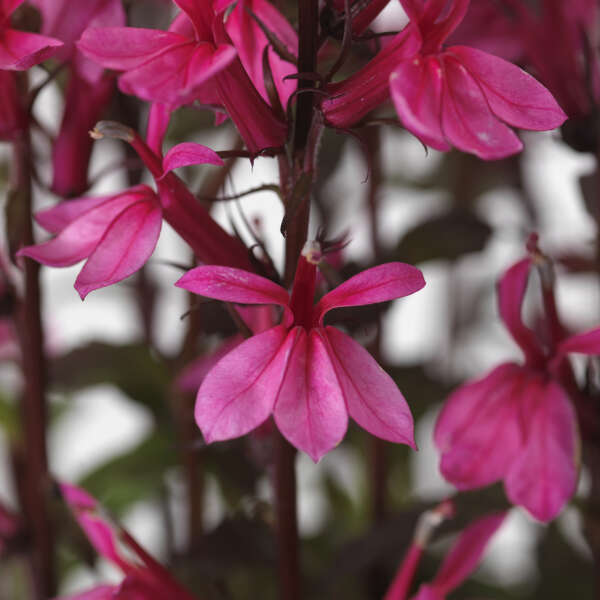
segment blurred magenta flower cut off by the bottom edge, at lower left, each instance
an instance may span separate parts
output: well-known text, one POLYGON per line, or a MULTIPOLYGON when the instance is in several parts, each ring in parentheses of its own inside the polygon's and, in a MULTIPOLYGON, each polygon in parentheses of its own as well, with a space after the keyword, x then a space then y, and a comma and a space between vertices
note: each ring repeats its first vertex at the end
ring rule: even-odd
POLYGON ((119 585, 100 585, 56 600, 194 600, 173 576, 123 528, 110 523, 86 491, 60 484, 63 499, 96 551, 125 574, 119 585), (123 544, 127 553, 120 550, 123 544))

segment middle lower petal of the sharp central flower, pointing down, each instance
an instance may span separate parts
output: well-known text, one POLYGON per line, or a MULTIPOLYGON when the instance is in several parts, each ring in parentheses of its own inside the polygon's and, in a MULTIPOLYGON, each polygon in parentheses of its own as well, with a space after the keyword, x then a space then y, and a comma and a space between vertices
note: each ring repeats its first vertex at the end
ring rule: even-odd
POLYGON ((281 433, 315 462, 337 446, 348 412, 327 348, 316 330, 295 327, 294 345, 274 409, 281 433))

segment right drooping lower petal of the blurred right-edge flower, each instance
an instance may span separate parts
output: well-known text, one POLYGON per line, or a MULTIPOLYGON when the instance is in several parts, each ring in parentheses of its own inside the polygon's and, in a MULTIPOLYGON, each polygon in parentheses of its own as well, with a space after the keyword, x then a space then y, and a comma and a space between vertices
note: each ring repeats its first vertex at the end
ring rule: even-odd
POLYGON ((528 440, 505 479, 509 500, 550 521, 575 493, 579 437, 575 411, 555 382, 530 382, 523 419, 528 440))

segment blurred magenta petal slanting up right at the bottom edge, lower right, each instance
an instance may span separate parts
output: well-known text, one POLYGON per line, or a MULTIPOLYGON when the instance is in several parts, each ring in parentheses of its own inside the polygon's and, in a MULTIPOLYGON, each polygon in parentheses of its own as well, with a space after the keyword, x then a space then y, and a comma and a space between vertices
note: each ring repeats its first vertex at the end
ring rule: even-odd
POLYGON ((476 568, 490 541, 506 518, 506 512, 488 515, 469 525, 447 554, 433 584, 448 593, 476 568))

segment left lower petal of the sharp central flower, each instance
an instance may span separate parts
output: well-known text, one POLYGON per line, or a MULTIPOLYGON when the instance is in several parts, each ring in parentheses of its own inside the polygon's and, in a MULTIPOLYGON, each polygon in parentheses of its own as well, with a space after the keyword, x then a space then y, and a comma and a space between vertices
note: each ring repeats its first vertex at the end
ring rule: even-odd
POLYGON ((271 414, 293 340, 282 325, 273 327, 237 346, 206 376, 195 415, 207 443, 244 435, 271 414))

